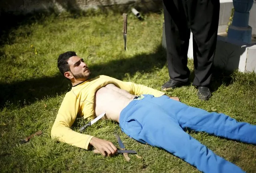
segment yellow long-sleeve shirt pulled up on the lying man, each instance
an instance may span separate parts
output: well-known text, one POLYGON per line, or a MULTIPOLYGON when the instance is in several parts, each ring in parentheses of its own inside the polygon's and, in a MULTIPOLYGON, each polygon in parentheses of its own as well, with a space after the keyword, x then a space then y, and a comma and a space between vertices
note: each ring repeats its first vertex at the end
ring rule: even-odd
POLYGON ((109 76, 101 75, 87 80, 72 87, 71 91, 66 93, 52 126, 52 138, 57 138, 59 141, 70 145, 88 149, 89 142, 93 136, 78 133, 73 131, 70 127, 73 125, 77 115, 83 116, 85 119, 89 120, 94 119, 95 92, 97 89, 107 84, 114 84, 134 95, 152 94, 155 97, 159 97, 165 94, 147 86, 134 84, 132 82, 123 82, 109 76))

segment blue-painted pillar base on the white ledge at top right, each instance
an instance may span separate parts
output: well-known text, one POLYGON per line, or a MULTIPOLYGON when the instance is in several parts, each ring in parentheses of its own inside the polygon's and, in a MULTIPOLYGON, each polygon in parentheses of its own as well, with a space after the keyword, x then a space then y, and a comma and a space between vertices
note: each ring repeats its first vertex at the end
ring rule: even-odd
POLYGON ((228 38, 251 43, 252 27, 249 26, 249 15, 253 0, 233 0, 234 17, 228 28, 228 38))

